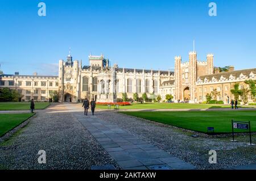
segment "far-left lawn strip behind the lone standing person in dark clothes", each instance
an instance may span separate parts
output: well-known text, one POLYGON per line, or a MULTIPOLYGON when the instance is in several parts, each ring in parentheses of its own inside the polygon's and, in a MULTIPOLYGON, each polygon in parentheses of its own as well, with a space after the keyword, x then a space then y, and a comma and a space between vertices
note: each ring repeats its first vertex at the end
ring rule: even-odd
MULTIPOLYGON (((49 106, 48 102, 35 102, 35 109, 40 110, 49 106)), ((30 110, 30 102, 0 102, 0 111, 30 110)))

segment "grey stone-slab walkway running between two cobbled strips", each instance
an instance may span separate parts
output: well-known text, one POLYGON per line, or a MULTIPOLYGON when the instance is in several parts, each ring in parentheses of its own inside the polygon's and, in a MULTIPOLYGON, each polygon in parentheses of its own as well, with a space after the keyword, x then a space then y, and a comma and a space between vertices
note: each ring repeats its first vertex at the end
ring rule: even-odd
POLYGON ((84 116, 82 113, 77 113, 74 116, 92 133, 102 148, 117 161, 122 169, 195 169, 191 164, 139 139, 117 125, 99 119, 97 116, 84 116))

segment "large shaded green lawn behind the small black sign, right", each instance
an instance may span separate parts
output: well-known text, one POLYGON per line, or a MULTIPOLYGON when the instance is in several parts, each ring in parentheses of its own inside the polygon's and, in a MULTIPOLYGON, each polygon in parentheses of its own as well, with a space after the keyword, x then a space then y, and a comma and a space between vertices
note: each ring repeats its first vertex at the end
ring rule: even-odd
MULTIPOLYGON (((143 119, 204 133, 207 133, 207 127, 214 127, 214 133, 230 133, 232 132, 232 119, 250 121, 251 131, 256 132, 256 111, 120 112, 126 115, 142 117, 143 119)), ((241 130, 236 131, 241 132, 241 130)))

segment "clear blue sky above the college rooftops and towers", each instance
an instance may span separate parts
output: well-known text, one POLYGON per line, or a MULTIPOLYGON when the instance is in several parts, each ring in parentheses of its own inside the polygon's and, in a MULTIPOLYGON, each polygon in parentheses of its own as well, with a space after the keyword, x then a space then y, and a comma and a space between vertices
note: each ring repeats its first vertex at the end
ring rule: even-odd
POLYGON ((119 67, 168 70, 174 56, 199 60, 214 54, 214 65, 256 68, 256 1, 11 1, 0 0, 0 63, 6 74, 57 74, 69 47, 88 65, 100 54, 119 67), (38 3, 46 16, 38 16, 38 3), (217 3, 217 16, 208 15, 217 3))

